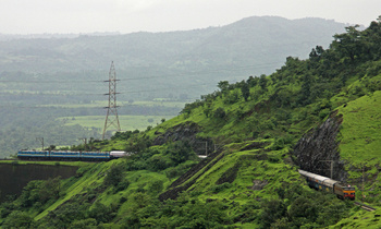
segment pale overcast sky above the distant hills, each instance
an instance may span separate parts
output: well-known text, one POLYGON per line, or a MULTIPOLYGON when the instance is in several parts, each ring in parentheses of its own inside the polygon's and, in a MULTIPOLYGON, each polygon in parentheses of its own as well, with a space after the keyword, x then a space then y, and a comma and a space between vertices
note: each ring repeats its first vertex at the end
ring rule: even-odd
POLYGON ((368 26, 381 0, 0 0, 0 33, 187 31, 254 15, 368 26))

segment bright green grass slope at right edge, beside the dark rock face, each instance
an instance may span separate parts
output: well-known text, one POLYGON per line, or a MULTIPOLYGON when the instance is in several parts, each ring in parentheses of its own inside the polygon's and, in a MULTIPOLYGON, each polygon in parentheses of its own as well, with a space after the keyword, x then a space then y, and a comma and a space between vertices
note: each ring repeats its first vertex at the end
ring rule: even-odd
MULTIPOLYGON (((349 170, 352 179, 362 179, 365 169, 365 192, 362 184, 357 185, 358 200, 370 202, 379 206, 381 178, 376 169, 380 165, 381 154, 381 92, 365 95, 339 108, 343 114, 343 124, 340 131, 340 152, 344 159, 355 166, 349 170)), ((341 220, 333 228, 380 228, 379 215, 381 209, 374 212, 360 210, 349 218, 341 220)))

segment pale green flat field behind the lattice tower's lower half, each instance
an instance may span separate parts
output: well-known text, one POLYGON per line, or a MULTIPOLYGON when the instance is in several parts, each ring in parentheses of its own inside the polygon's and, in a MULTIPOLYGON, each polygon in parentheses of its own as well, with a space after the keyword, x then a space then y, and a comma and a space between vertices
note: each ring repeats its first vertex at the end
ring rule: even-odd
MULTIPOLYGON (((173 116, 119 116, 119 122, 122 131, 146 130, 148 125, 156 126, 161 123, 162 119, 169 120, 173 116)), ((103 130, 105 116, 77 116, 62 117, 58 120, 63 120, 65 125, 82 125, 84 128, 97 128, 103 130)))

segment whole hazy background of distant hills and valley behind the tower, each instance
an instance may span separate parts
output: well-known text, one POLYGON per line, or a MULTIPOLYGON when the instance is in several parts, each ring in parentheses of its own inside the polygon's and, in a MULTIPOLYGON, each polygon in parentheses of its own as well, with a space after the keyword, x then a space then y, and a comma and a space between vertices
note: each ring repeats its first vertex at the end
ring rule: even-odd
MULTIPOLYGON (((105 120, 83 121, 81 129, 57 119, 105 119, 108 85, 103 81, 112 60, 121 80, 119 113, 168 119, 179 114, 184 103, 212 92, 218 81, 270 73, 287 55, 307 57, 316 44, 328 46, 343 26, 321 19, 248 17, 226 26, 173 33, 0 37, 0 157, 40 147, 36 137, 46 137, 48 145, 99 138, 105 120), (282 37, 274 36, 273 29, 282 37), (41 121, 47 124, 35 126, 41 121), (52 140, 50 133, 62 137, 52 140)), ((128 131, 160 122, 123 123, 122 130, 128 131)))

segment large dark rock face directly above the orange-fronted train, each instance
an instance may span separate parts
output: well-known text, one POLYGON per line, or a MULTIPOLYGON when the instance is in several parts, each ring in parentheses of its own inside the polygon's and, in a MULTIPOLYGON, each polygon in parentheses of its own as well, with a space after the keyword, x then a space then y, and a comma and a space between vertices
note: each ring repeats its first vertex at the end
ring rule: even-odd
POLYGON ((331 161, 333 160, 333 179, 345 181, 347 173, 344 170, 344 161, 340 159, 337 150, 340 142, 339 133, 342 117, 336 117, 336 112, 331 113, 320 126, 310 130, 295 145, 293 155, 295 164, 300 169, 331 177, 331 161))

